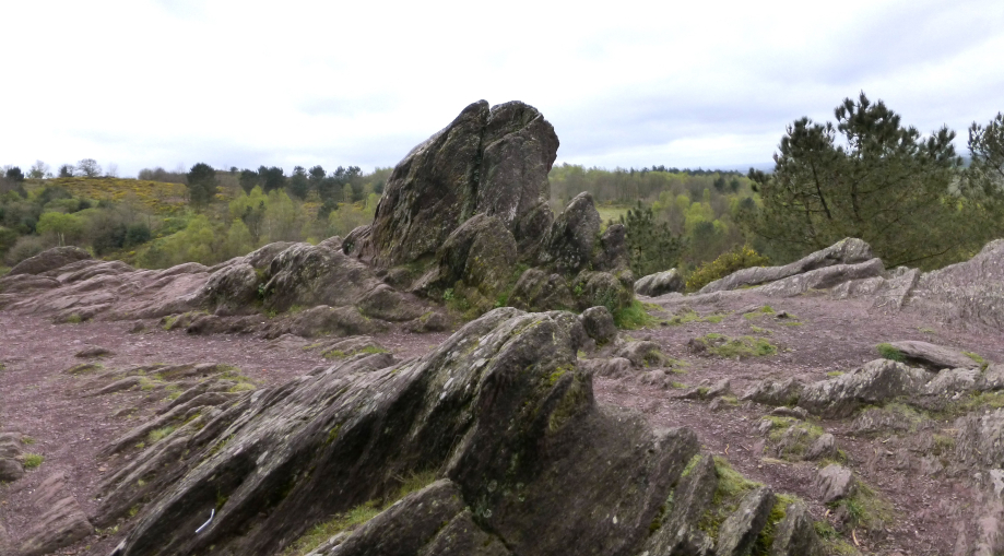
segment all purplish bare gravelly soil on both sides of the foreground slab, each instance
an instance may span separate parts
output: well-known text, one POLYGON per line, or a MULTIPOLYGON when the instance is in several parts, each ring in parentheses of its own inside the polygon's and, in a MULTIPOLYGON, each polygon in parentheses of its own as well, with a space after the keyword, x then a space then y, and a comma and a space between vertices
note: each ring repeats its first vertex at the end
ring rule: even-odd
MULTIPOLYGON (((681 312, 678 301, 653 301, 671 306, 669 312, 651 307, 653 315, 681 312)), ((652 340, 666 355, 686 362, 686 374, 676 375, 674 380, 697 386, 729 377, 735 393, 764 378, 796 376, 807 382, 825 379, 827 372, 850 370, 876 358, 875 344, 887 341, 923 340, 972 351, 989 360, 1004 360, 997 331, 961 330, 910 312, 888 315, 870 307, 871 300, 834 301, 818 295, 791 299, 746 295, 742 300, 716 307, 694 307, 702 317, 723 316, 719 322, 695 320, 626 334, 652 340), (743 310, 763 305, 788 311, 793 318, 743 317, 743 310), (688 340, 710 332, 765 338, 778 346, 779 353, 736 360, 688 352, 688 340)), ((82 362, 74 357, 80 350, 102 346, 115 352, 101 359, 106 368, 153 363, 234 365, 259 386, 281 383, 332 364, 317 353, 276 346, 251 336, 193 336, 181 331, 166 332, 153 321, 145 322, 144 332, 131 333, 133 326, 134 322, 56 326, 39 318, 0 312, 0 363, 4 365, 0 370, 0 430, 32 437, 35 445, 31 450, 45 457, 45 462, 24 478, 0 486, 0 523, 15 545, 43 510, 32 505, 31 495, 45 477, 64 473, 84 510, 93 511, 96 486, 105 473, 111 472, 96 453, 165 403, 160 391, 81 398, 80 377, 62 372, 82 362)), ((403 359, 427 352, 447 335, 394 331, 375 338, 403 359)), ((645 386, 638 377, 598 377, 595 392, 600 403, 636 409, 654 426, 694 429, 707 451, 724 456, 747 477, 802 497, 817 519, 834 519, 813 488, 816 464, 773 460, 757 451, 763 437, 755 426, 769 407, 739 403, 712 412, 708 402, 676 399, 681 390, 645 386)), ((857 539, 864 554, 950 554, 959 534, 954 523, 969 499, 964 481, 943 473, 924 475, 910 469, 897 470, 891 462, 893 452, 884 450, 884 437, 848 436, 849 421, 819 424, 837 437, 837 446, 847 452, 848 465, 896 509, 894 521, 884 530, 855 531, 849 541, 857 539)), ((119 535, 101 533, 105 536, 92 536, 60 554, 107 554, 119 535)))

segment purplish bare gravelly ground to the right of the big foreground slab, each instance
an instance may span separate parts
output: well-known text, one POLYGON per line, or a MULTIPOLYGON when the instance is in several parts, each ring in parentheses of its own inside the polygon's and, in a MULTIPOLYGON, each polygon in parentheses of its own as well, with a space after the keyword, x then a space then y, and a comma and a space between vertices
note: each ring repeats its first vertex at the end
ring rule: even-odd
MULTIPOLYGON (((685 314, 686 305, 681 306, 678 301, 663 305, 669 305, 670 310, 652 312, 663 317, 685 314)), ((729 378, 735 394, 765 378, 824 380, 828 374, 851 370, 877 358, 876 344, 899 340, 953 346, 976 352, 989 360, 1004 362, 1004 345, 996 331, 949 328, 908 311, 895 315, 876 311, 871 305, 871 300, 830 300, 817 295, 788 299, 746 295, 742 300, 696 307, 704 318, 723 316, 720 322, 695 320, 629 334, 654 341, 666 355, 688 364, 686 374, 675 375, 673 380, 696 386, 729 378), (753 318, 742 315, 763 306, 769 306, 775 312, 753 318), (781 311, 787 311, 791 318, 776 318, 781 311), (686 346, 690 339, 708 333, 764 338, 778 346, 779 353, 735 360, 688 352, 686 346)), ((655 426, 694 429, 708 451, 724 456, 747 477, 805 499, 816 519, 832 521, 813 486, 817 464, 766 458, 757 450, 757 442, 764 436, 756 431, 756 425, 768 407, 724 404, 713 412, 709 402, 677 400, 673 397, 678 390, 643 386, 630 378, 598 379, 595 390, 598 400, 642 411, 655 426)), ((887 523, 885 531, 855 532, 859 549, 865 554, 893 555, 898 554, 897 551, 911 555, 952 554, 959 534, 954 522, 962 516, 970 498, 964 482, 944 473, 925 475, 912 469, 896 469, 897 454, 883 445, 889 435, 874 439, 849 436, 851 421, 818 424, 835 435, 838 448, 847 453, 847 465, 896 510, 894 522, 887 523)), ((950 426, 945 423, 946 428, 950 426)))

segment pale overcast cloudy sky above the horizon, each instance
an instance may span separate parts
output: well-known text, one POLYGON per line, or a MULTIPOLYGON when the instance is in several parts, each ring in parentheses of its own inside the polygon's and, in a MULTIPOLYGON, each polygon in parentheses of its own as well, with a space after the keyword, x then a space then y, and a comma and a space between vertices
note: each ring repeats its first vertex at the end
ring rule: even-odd
POLYGON ((770 167, 787 125, 883 99, 922 132, 1004 111, 1004 2, 3 2, 0 165, 395 165, 479 99, 557 164, 770 167))

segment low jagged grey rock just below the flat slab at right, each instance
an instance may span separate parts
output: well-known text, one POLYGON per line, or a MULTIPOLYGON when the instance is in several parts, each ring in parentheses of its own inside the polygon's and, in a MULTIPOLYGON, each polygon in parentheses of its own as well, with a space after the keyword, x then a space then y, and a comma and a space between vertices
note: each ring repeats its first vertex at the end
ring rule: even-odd
POLYGON ((862 405, 917 395, 930 378, 923 369, 875 359, 846 375, 806 386, 799 405, 824 417, 847 417, 862 405))

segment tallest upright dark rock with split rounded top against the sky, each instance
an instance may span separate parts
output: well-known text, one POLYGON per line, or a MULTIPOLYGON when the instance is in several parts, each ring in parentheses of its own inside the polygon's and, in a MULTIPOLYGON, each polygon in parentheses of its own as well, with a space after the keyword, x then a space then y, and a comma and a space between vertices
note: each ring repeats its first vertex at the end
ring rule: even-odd
POLYGON ((476 213, 497 216, 527 239, 540 226, 557 147, 554 128, 535 108, 474 103, 398 164, 371 227, 353 232, 346 252, 385 269, 418 261, 476 213))

